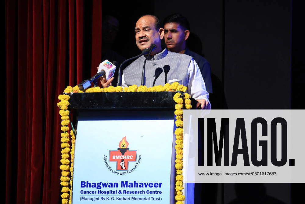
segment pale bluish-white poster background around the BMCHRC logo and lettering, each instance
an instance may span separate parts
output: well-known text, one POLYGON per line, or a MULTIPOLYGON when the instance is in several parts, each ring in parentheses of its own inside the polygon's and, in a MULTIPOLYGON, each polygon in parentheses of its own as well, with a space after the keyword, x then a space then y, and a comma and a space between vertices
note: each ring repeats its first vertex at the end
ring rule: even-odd
MULTIPOLYGON (((174 120, 117 120, 117 121, 78 121, 75 145, 75 163, 73 180, 73 203, 169 203, 170 167, 173 142, 174 120), (117 150, 119 142, 126 136, 129 150, 137 150, 137 161, 141 161, 134 171, 126 175, 117 175, 106 167, 107 163, 115 172, 116 162, 109 162, 109 150, 117 150), (168 155, 167 157, 164 155, 168 155), (81 181, 90 183, 118 183, 118 188, 81 188, 81 181), (121 181, 133 183, 162 183, 161 187, 121 188, 121 181), (145 191, 145 194, 81 194, 83 191, 145 191), (162 191, 161 194, 147 194, 146 191, 162 191), (81 200, 81 197, 96 197, 99 200, 81 200), (108 197, 108 198, 107 198, 108 197), (117 200, 117 198, 130 200, 117 200), (150 200, 135 201, 132 197, 148 197, 150 200), (159 200, 153 200, 158 198, 159 200), (109 200, 107 200, 109 199, 109 200)), ((128 170, 136 162, 129 162, 128 170)))

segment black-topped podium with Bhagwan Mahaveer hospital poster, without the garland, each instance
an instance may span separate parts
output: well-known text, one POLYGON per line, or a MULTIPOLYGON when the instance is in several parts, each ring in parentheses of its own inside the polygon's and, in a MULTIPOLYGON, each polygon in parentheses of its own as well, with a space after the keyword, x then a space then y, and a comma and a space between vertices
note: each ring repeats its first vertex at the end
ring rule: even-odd
POLYGON ((70 96, 74 204, 175 203, 175 93, 70 96))

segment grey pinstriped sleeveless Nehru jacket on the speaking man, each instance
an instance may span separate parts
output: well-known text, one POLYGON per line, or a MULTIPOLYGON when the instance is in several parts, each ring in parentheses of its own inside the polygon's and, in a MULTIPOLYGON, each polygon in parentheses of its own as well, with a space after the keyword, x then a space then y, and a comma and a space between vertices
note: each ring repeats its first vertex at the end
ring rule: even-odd
MULTIPOLYGON (((191 56, 169 52, 167 49, 154 57, 149 56, 145 65, 145 85, 164 85, 168 80, 178 79, 184 86, 188 86, 188 65, 191 59, 191 56)), ((124 69, 124 81, 127 86, 141 85, 144 60, 144 56, 139 57, 124 69)))

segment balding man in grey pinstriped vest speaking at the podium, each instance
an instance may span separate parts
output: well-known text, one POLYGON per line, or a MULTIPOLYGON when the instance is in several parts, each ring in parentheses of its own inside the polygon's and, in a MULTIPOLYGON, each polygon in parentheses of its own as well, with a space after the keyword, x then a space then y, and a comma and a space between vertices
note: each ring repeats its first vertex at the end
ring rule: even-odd
MULTIPOLYGON (((150 56, 141 56, 124 69, 122 76, 122 87, 136 84, 141 85, 142 68, 146 57, 145 76, 146 86, 164 85, 169 80, 180 80, 188 87, 188 93, 201 103, 201 109, 210 109, 209 93, 199 67, 193 57, 169 52, 166 48, 162 50, 161 40, 164 36, 164 29, 156 16, 144 15, 135 25, 135 40, 138 48, 143 51, 152 44, 156 44, 150 56)), ((103 79, 103 78, 102 78, 103 79)), ((101 80, 103 87, 108 87, 113 78, 106 81, 101 80)))

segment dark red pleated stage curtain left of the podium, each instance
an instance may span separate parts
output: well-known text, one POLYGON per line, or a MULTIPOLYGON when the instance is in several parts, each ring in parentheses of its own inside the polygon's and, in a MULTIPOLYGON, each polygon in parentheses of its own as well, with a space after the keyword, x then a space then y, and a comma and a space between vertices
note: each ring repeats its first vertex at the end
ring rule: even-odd
POLYGON ((58 95, 96 73, 101 0, 5 1, 6 203, 61 203, 58 95))

